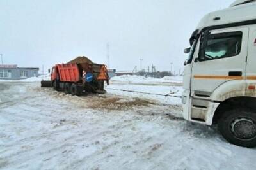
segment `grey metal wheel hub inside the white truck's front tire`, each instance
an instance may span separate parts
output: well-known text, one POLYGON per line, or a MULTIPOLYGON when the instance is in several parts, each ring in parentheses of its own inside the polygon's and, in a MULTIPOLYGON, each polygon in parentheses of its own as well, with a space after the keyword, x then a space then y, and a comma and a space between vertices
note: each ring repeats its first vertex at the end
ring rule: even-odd
POLYGON ((250 118, 237 118, 231 124, 231 131, 239 139, 256 137, 256 124, 250 118))

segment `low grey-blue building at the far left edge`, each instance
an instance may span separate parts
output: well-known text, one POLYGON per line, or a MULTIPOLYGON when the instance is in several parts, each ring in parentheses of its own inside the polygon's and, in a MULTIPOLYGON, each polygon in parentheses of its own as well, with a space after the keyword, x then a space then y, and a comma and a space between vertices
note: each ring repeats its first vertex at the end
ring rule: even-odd
POLYGON ((0 64, 0 79, 18 80, 29 77, 37 77, 39 68, 18 67, 16 64, 0 64))

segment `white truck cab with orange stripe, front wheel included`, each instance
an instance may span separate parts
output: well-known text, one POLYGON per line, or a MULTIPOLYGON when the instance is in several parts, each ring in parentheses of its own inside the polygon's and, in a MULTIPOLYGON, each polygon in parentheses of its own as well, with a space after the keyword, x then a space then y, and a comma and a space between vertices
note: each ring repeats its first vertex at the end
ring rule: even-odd
POLYGON ((256 1, 205 15, 190 38, 183 116, 218 124, 227 141, 256 146, 256 1))

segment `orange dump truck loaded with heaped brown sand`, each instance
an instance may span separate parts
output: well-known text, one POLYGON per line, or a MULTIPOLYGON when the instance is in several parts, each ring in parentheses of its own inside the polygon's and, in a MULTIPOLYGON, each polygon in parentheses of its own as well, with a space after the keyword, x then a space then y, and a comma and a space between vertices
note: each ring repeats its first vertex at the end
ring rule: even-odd
MULTIPOLYGON (((56 64, 51 71, 51 86, 64 90, 66 94, 79 96, 83 91, 106 93, 104 82, 108 83, 108 69, 104 64, 95 64, 86 57, 77 57, 67 64, 56 64)), ((42 81, 42 87, 49 82, 42 81)))

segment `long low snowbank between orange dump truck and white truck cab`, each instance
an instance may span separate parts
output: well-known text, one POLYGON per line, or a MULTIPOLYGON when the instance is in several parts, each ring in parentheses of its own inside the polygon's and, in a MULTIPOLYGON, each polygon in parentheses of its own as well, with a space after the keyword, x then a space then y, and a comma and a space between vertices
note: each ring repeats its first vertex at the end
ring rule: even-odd
POLYGON ((127 83, 182 83, 182 76, 165 76, 164 78, 152 78, 145 76, 115 76, 111 81, 121 81, 127 83))

